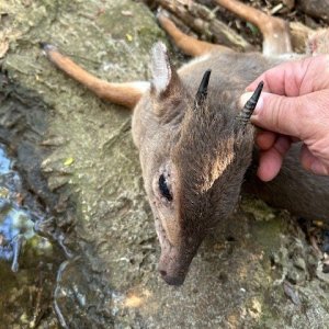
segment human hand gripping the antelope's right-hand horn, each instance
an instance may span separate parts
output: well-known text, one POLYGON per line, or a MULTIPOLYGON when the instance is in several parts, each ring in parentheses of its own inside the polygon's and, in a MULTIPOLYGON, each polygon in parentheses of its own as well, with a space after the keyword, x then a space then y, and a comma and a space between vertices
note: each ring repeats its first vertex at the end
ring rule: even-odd
MULTIPOLYGON (((303 141, 302 166, 316 174, 329 174, 329 56, 284 63, 261 75, 247 91, 261 80, 264 91, 251 116, 264 129, 256 139, 261 150, 258 177, 272 180, 297 140, 303 141)), ((250 95, 245 93, 241 103, 250 95)))

